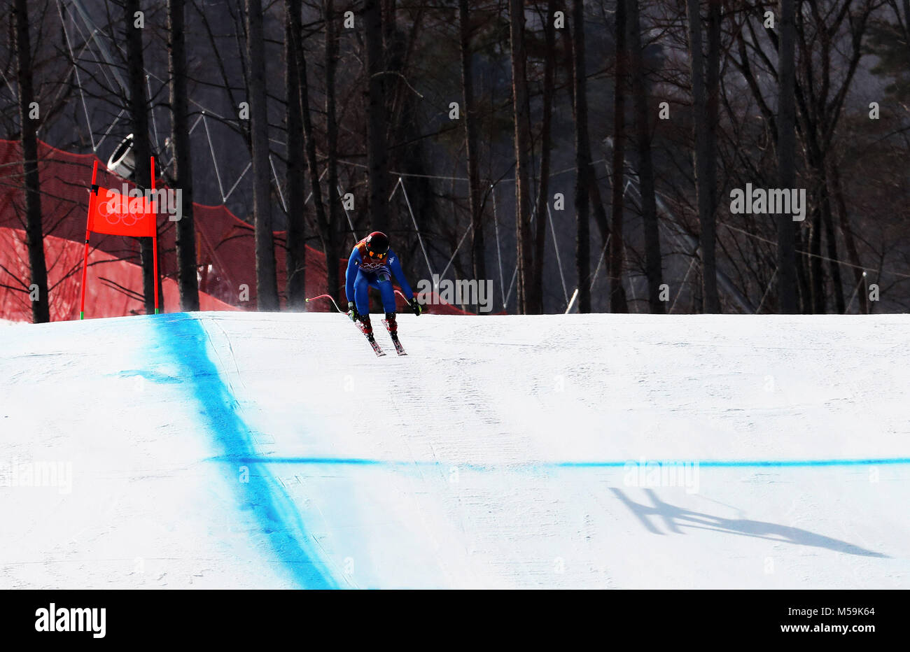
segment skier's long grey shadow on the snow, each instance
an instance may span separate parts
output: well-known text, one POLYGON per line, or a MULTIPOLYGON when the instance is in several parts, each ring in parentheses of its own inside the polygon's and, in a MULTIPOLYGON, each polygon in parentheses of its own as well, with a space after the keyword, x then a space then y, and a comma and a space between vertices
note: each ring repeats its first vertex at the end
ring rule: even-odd
POLYGON ((771 541, 783 541, 786 543, 797 544, 800 546, 826 547, 830 550, 843 552, 848 555, 860 555, 863 557, 885 557, 882 553, 866 550, 863 547, 854 546, 846 541, 824 535, 809 532, 800 527, 789 527, 776 525, 774 523, 765 523, 764 521, 752 521, 744 518, 723 518, 713 517, 710 514, 693 512, 690 509, 675 507, 664 503, 652 489, 645 489, 645 494, 651 498, 653 507, 636 503, 620 489, 611 487, 613 494, 619 498, 622 503, 632 510, 632 514, 642 522, 642 525, 649 532, 655 535, 662 535, 661 532, 651 522, 649 517, 658 517, 663 520, 664 526, 675 534, 682 534, 681 527, 693 529, 713 530, 714 532, 725 532, 727 534, 742 535, 744 537, 756 537, 769 539, 771 541))

